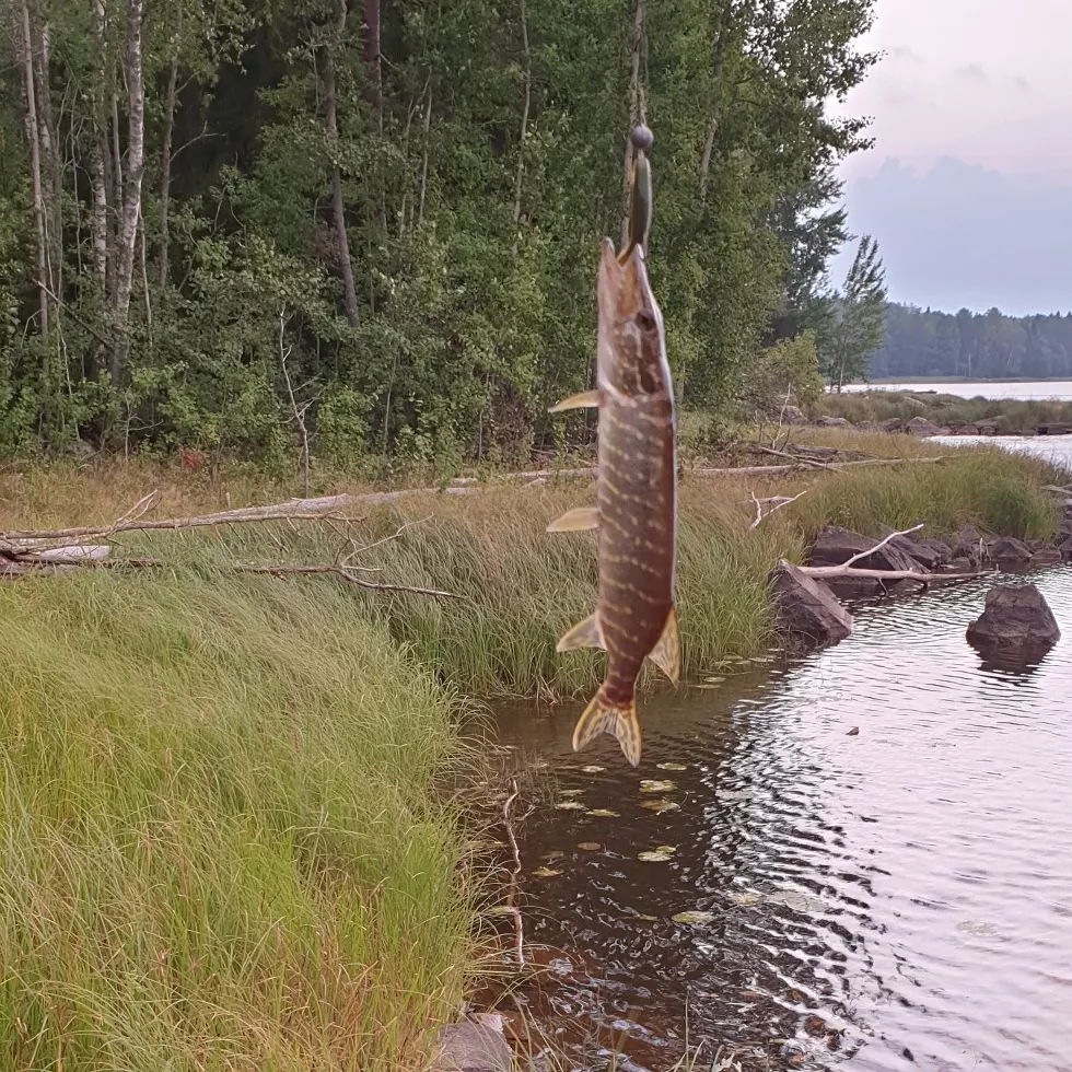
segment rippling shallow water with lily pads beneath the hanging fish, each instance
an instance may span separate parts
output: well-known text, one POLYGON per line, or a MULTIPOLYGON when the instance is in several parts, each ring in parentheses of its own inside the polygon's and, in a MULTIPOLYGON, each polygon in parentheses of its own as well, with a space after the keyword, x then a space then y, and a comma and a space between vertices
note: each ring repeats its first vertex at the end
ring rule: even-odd
POLYGON ((1033 580, 1064 636, 1032 669, 965 641, 989 583, 865 607, 837 648, 643 702, 637 770, 570 750, 579 703, 500 713, 555 772, 520 834, 558 974, 521 1000, 576 1068, 669 1069, 686 1011, 745 1069, 1072 1068, 1072 567, 1033 580))

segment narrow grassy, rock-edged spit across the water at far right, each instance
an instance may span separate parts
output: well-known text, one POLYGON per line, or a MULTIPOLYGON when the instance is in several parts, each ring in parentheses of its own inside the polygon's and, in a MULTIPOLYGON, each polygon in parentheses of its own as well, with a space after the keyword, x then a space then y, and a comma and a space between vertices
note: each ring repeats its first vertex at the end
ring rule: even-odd
POLYGON ((847 392, 824 395, 808 408, 808 417, 844 417, 859 424, 862 421, 884 421, 892 418, 911 420, 925 417, 935 424, 951 421, 975 423, 997 420, 999 432, 1019 434, 1034 432, 1049 421, 1072 421, 1072 403, 1015 398, 960 398, 957 395, 910 391, 847 392))

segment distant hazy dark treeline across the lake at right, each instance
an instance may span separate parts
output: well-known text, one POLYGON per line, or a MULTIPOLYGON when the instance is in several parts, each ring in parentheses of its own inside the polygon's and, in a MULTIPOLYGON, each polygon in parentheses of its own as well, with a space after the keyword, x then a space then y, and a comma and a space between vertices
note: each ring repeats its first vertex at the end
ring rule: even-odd
POLYGON ((1072 378, 1072 313, 939 313, 890 302, 870 378, 921 376, 1072 378))

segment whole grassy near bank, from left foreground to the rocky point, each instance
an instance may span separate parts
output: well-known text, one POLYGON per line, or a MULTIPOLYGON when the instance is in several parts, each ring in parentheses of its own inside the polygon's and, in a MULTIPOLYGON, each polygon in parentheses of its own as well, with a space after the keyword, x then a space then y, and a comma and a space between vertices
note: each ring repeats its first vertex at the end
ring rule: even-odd
MULTIPOLYGON (((852 435, 922 450, 906 442, 852 435)), ((997 450, 687 477, 686 671, 771 642, 768 571, 823 524, 1045 536, 1050 478, 997 450), (804 489, 748 529, 753 493, 804 489)), ((0 525, 108 522, 153 487, 161 516, 282 498, 248 477, 54 467, 0 476, 0 525)), ((466 831, 438 789, 468 762, 453 701, 595 687, 602 654, 555 652, 595 605, 595 538, 544 532, 591 496, 493 485, 353 523, 369 578, 456 599, 229 572, 331 561, 323 522, 131 534, 127 551, 168 564, 0 585, 0 1064, 422 1068, 474 947, 466 831)))

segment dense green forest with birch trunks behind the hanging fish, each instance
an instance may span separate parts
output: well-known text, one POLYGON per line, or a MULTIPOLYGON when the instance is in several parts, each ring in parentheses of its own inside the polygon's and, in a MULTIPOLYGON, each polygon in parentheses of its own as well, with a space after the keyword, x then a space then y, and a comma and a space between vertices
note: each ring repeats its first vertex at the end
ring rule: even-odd
POLYGON ((579 434, 546 408, 592 374, 641 119, 681 398, 747 405, 771 356, 815 380, 835 168, 870 144, 830 102, 876 60, 873 0, 5 8, 9 455, 493 462, 579 434))

